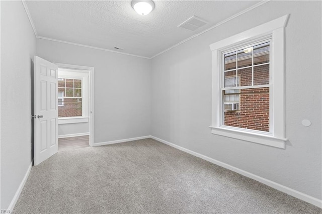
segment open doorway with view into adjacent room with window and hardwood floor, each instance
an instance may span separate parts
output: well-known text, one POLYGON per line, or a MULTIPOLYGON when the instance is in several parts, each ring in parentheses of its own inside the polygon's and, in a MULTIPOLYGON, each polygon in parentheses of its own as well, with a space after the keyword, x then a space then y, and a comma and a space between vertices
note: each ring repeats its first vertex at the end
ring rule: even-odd
POLYGON ((58 152, 94 143, 94 68, 58 66, 58 152))

